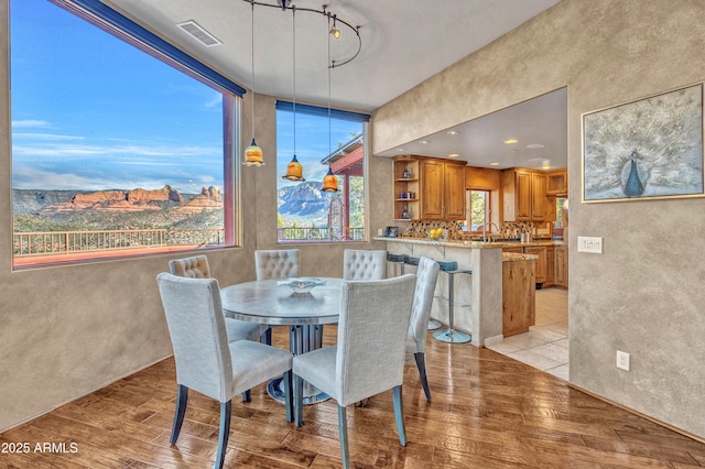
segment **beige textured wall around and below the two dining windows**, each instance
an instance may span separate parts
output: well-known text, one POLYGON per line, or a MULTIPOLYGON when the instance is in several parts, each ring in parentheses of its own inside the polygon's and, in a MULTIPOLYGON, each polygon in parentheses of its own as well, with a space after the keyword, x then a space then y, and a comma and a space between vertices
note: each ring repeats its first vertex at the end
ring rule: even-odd
MULTIPOLYGON (((0 0, 0 24, 8 2, 0 0)), ((8 64, 0 29, 0 64, 8 64)), ((154 277, 178 255, 12 272, 8 67, 0 67, 0 432, 171 356, 154 277)), ((242 105, 249 144, 251 94, 242 105)), ((257 96, 257 141, 276 154, 274 99, 257 96)), ((391 218, 391 163, 370 159, 370 227, 391 218)), ((275 164, 239 167, 242 248, 208 251, 223 285, 254 279, 253 251, 275 248, 275 164), (258 196, 259 195, 259 196, 258 196)), ((302 246, 304 275, 339 275, 343 249, 373 243, 302 246)))

